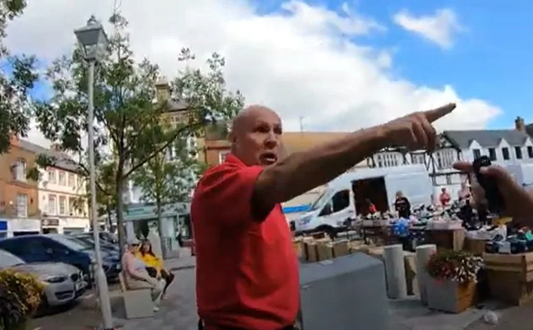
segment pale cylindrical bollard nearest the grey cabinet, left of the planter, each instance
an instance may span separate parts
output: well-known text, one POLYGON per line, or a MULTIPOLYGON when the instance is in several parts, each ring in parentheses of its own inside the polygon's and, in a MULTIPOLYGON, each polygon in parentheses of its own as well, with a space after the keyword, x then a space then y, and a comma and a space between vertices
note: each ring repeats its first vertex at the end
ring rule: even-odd
POLYGON ((387 296, 392 299, 407 298, 403 246, 401 244, 385 246, 383 261, 387 278, 387 296))

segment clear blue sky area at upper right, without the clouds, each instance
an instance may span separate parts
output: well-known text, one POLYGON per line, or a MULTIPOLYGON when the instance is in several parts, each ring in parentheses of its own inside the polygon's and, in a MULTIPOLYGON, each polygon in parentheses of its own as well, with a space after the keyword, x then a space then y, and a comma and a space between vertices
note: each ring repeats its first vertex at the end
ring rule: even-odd
MULTIPOLYGON (((306 2, 339 12, 345 3, 306 2)), ((258 8, 267 14, 279 10, 280 3, 283 1, 258 0, 258 8)), ((393 49, 393 74, 429 87, 450 83, 463 98, 481 98, 501 107, 503 115, 491 120, 488 128, 509 126, 517 115, 533 122, 533 65, 528 65, 533 50, 533 1, 515 0, 510 5, 499 0, 359 0, 351 6, 387 26, 386 33, 360 36, 356 43, 393 49), (453 10, 464 28, 447 50, 402 29, 391 19, 404 9, 418 16, 441 8, 453 10)))

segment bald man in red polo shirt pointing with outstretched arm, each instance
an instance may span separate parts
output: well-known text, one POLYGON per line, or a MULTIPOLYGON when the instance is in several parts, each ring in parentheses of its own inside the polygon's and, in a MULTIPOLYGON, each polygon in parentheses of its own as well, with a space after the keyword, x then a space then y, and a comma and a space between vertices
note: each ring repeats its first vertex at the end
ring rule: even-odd
POLYGON ((344 173, 386 146, 431 150, 431 122, 455 104, 406 115, 279 159, 281 119, 252 106, 235 118, 231 154, 199 180, 191 219, 199 327, 294 329, 298 261, 281 205, 344 173))

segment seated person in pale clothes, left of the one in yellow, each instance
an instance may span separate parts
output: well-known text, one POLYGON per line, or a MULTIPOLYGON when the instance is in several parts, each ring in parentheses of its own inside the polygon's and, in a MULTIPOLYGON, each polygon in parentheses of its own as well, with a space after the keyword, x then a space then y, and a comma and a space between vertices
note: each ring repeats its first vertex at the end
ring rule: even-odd
POLYGON ((164 281, 151 277, 146 271, 146 263, 135 254, 139 251, 138 240, 129 240, 127 248, 122 256, 122 274, 124 274, 124 284, 128 289, 151 289, 153 300, 153 311, 159 311, 159 304, 163 294, 164 281))

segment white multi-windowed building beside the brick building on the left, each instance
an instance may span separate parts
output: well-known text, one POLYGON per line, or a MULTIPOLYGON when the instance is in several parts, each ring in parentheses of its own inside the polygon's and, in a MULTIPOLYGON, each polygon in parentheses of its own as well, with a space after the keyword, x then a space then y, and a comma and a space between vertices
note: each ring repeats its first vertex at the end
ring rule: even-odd
POLYGON ((68 156, 43 149, 56 157, 56 166, 40 170, 39 209, 44 234, 87 232, 90 228, 86 179, 68 156))

